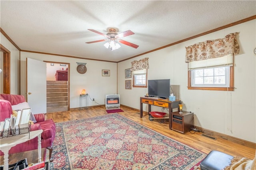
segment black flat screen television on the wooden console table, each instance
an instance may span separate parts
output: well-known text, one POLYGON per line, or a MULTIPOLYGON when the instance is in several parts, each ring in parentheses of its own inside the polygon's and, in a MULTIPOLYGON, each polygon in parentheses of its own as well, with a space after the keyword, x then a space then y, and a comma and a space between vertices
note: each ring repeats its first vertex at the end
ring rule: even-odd
POLYGON ((169 98, 170 79, 148 80, 148 96, 158 98, 169 98))

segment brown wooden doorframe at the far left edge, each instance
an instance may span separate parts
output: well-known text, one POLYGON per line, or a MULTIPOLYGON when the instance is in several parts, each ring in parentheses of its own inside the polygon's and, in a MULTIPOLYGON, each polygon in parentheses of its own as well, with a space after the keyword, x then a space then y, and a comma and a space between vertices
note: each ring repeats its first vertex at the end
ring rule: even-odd
POLYGON ((3 93, 10 94, 10 75, 11 75, 11 52, 6 49, 2 44, 0 44, 0 51, 4 53, 3 55, 3 93))

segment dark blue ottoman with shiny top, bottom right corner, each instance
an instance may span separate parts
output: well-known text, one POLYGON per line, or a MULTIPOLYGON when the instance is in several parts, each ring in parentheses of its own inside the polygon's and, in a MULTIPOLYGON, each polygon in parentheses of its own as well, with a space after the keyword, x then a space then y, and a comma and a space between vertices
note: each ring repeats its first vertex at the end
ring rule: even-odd
POLYGON ((221 170, 229 166, 233 156, 218 150, 212 150, 200 163, 201 170, 221 170))

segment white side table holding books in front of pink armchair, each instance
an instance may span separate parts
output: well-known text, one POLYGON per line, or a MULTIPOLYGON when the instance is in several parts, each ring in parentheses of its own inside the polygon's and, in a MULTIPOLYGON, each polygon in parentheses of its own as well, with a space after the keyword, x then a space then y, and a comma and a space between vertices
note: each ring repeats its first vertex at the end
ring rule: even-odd
POLYGON ((31 131, 30 138, 29 138, 28 134, 24 134, 24 135, 18 135, 18 136, 0 139, 0 149, 2 150, 2 152, 4 152, 4 170, 8 170, 9 150, 14 146, 16 146, 20 143, 29 141, 30 139, 34 139, 35 137, 38 137, 38 148, 37 148, 38 162, 41 162, 41 133, 42 132, 43 132, 42 129, 37 130, 37 131, 31 131))

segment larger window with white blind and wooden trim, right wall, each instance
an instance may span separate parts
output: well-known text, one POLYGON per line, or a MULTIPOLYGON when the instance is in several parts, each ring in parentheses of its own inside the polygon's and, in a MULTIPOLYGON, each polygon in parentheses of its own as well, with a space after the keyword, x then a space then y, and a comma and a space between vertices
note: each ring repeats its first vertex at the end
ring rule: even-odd
POLYGON ((233 54, 188 63, 188 89, 233 91, 233 54))

